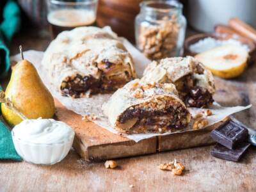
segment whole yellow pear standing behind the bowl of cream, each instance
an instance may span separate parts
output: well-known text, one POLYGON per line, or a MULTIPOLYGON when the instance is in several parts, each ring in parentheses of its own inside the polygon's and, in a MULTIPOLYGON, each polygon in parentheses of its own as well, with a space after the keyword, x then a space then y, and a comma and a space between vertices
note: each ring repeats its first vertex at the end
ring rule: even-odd
MULTIPOLYGON (((53 97, 40 79, 36 68, 27 60, 20 61, 13 68, 5 97, 27 118, 52 118, 54 115, 53 97)), ((1 109, 8 124, 17 125, 22 122, 22 118, 5 104, 2 103, 1 109)))

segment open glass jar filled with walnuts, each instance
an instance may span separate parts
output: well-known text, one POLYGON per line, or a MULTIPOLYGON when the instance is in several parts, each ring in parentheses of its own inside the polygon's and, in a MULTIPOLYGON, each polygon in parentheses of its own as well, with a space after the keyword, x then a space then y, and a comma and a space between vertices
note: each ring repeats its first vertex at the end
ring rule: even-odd
POLYGON ((135 19, 136 46, 150 60, 180 56, 186 19, 178 1, 143 1, 135 19))

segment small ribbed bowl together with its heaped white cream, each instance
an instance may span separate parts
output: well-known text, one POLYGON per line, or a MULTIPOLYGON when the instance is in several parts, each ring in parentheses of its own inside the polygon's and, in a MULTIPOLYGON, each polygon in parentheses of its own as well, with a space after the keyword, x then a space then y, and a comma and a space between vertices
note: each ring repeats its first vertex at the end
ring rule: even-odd
POLYGON ((53 119, 24 120, 12 130, 17 153, 35 164, 60 162, 72 147, 74 131, 53 119))

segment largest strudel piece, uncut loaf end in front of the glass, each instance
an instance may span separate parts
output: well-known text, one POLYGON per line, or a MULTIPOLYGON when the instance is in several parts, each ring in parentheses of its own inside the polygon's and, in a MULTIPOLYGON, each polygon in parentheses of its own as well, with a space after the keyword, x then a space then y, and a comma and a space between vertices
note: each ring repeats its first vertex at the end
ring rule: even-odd
POLYGON ((136 77, 131 54, 115 36, 95 27, 63 31, 42 64, 64 96, 108 93, 136 77))

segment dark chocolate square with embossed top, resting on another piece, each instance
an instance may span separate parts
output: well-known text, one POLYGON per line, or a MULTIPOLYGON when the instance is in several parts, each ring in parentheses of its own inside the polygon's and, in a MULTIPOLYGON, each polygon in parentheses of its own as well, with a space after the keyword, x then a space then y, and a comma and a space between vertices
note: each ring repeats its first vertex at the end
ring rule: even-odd
POLYGON ((233 149, 237 143, 241 143, 248 138, 248 130, 241 122, 231 119, 224 125, 214 129, 211 132, 211 137, 217 143, 233 149))

